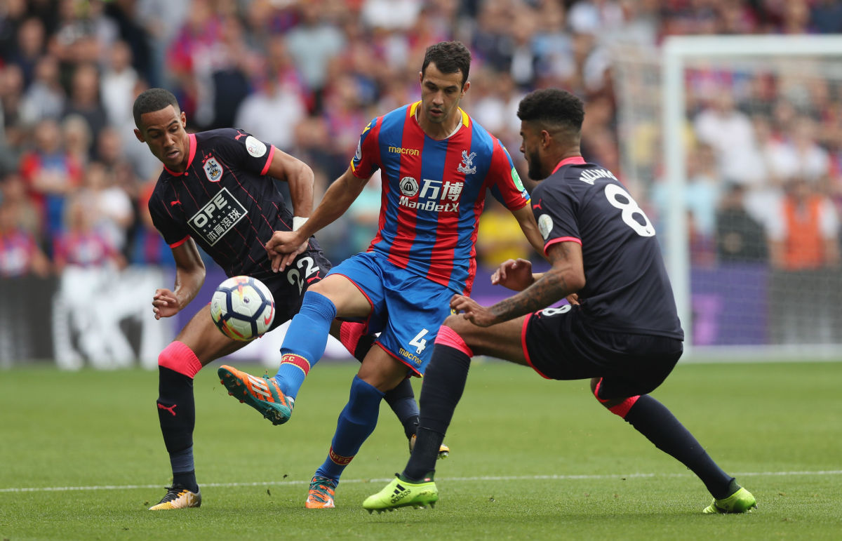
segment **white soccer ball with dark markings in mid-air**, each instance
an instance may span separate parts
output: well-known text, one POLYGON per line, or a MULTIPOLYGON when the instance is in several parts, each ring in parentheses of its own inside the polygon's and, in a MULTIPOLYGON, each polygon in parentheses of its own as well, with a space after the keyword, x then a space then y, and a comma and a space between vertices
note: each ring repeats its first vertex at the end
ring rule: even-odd
POLYGON ((272 292, 257 278, 232 276, 210 297, 210 318, 232 340, 257 338, 274 320, 272 292))

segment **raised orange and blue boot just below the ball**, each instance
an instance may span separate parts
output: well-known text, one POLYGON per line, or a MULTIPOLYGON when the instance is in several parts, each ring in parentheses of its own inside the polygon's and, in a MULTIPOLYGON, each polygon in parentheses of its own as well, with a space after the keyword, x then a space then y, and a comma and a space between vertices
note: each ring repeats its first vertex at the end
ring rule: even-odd
POLYGON ((257 378, 228 365, 222 365, 216 373, 228 394, 258 410, 273 425, 283 425, 290 420, 295 402, 281 392, 274 378, 257 378))

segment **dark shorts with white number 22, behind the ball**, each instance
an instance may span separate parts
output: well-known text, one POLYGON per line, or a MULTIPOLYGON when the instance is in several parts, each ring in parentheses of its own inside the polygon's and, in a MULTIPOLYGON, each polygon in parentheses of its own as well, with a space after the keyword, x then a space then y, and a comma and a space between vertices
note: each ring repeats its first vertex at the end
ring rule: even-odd
POLYGON ((307 251, 299 254, 284 272, 261 276, 259 280, 274 297, 274 321, 269 330, 292 319, 301 308, 307 287, 328 276, 332 267, 322 252, 307 251))

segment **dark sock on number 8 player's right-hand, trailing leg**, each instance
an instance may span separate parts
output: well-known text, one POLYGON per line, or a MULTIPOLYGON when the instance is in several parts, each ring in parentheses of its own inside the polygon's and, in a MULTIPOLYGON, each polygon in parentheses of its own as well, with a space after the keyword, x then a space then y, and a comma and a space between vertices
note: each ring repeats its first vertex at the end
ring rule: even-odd
POLYGON ((690 431, 658 400, 648 394, 642 394, 626 413, 625 419, 653 442, 655 447, 676 458, 698 475, 717 500, 726 498, 736 490, 728 491, 734 481, 733 477, 713 462, 690 431))

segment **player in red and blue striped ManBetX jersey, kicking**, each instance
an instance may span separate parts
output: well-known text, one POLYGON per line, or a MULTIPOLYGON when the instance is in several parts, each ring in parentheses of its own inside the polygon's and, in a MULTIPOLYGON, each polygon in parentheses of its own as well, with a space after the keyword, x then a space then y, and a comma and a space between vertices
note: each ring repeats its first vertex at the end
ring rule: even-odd
MULTIPOLYGON (((256 378, 219 369, 222 382, 281 424, 290 418, 307 372, 324 351, 335 317, 365 320, 380 332, 351 383, 328 457, 313 476, 305 506, 333 507, 339 476, 374 430, 384 392, 421 375, 454 293, 469 294, 476 272, 474 244, 486 190, 520 222, 530 243, 541 236, 509 153, 459 108, 471 54, 458 42, 430 46, 419 73, 421 101, 379 116, 365 126, 350 167, 330 186, 309 221, 295 233, 274 233, 267 243, 273 268, 284 270, 303 239, 345 212, 380 169, 382 198, 375 238, 365 253, 336 266, 306 292, 292 319, 274 378, 264 399, 256 378)), ((258 382, 259 383, 259 382, 258 382)), ((412 447, 412 443, 410 444, 412 447)), ((436 448, 438 456, 442 451, 436 448)))

